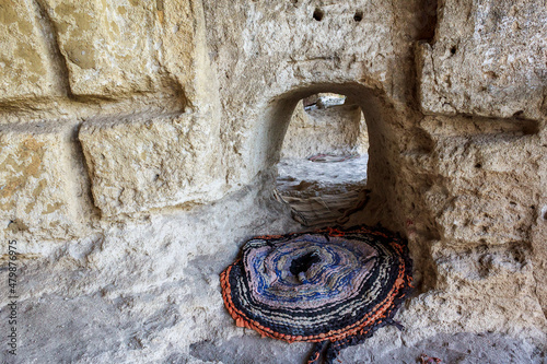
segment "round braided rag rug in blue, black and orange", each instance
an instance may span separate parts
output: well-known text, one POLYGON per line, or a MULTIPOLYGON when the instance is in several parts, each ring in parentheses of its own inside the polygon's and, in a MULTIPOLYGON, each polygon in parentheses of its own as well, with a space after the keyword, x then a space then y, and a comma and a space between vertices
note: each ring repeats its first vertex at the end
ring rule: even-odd
POLYGON ((221 273, 224 304, 238 327, 288 342, 315 342, 333 363, 393 320, 411 290, 406 240, 365 226, 248 240, 221 273))

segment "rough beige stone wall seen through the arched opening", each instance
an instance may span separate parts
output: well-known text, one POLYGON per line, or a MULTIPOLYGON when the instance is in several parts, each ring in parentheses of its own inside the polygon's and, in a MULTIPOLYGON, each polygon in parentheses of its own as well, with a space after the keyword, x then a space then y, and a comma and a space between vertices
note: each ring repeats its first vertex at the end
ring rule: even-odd
POLYGON ((358 105, 340 105, 304 110, 299 102, 283 139, 281 157, 302 157, 317 153, 351 153, 366 138, 366 125, 361 122, 358 105), (364 136, 362 136, 364 134, 364 136))

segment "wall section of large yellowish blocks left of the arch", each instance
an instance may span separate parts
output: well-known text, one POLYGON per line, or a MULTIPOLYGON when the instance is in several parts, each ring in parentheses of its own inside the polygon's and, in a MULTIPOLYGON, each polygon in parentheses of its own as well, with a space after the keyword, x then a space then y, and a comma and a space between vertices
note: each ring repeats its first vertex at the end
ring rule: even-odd
POLYGON ((58 227, 42 220, 86 225, 97 219, 94 207, 105 218, 226 192, 220 149, 211 148, 220 143, 219 104, 205 24, 196 22, 200 3, 5 1, 2 9, 4 226, 33 221, 66 238, 67 228, 54 234, 58 227), (72 169, 70 158, 81 166, 72 169))

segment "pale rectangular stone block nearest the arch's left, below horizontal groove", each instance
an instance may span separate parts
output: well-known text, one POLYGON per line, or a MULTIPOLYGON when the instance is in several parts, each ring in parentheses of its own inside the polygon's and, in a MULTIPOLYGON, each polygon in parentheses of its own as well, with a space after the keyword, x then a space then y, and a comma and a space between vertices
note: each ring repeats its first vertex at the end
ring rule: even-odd
POLYGON ((79 138, 95 204, 112 216, 221 198, 216 136, 191 114, 88 121, 79 138))

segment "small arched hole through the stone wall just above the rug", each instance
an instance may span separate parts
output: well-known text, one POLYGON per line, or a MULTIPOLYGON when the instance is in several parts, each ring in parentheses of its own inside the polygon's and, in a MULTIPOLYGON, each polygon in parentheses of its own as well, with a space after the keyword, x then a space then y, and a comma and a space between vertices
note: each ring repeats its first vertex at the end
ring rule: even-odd
POLYGON ((344 224, 368 199, 363 111, 341 94, 300 99, 281 148, 276 188, 306 226, 344 224))

